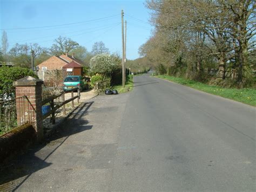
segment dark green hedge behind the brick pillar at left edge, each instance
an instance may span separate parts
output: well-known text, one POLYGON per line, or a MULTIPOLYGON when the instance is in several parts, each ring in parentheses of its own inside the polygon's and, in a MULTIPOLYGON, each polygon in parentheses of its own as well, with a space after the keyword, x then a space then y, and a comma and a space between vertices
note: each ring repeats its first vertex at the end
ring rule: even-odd
POLYGON ((21 79, 26 76, 32 76, 37 78, 28 68, 22 67, 0 67, 0 95, 3 97, 3 94, 8 94, 14 96, 15 87, 12 83, 18 79, 21 79))

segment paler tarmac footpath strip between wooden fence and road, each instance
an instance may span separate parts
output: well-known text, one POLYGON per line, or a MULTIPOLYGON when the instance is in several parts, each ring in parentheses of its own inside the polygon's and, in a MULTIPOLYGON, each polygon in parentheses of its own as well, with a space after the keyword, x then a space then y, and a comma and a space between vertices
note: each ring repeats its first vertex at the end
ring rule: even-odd
POLYGON ((1 165, 0 191, 110 189, 129 93, 94 96, 82 98, 82 104, 44 143, 1 165))

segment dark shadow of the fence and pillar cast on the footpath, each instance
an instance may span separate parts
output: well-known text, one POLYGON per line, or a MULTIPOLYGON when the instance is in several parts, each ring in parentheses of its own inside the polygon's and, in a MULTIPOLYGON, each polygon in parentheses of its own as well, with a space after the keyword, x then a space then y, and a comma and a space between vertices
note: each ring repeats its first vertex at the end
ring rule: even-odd
POLYGON ((55 152, 70 135, 92 129, 87 125, 89 121, 82 117, 86 115, 93 102, 87 102, 58 126, 56 131, 42 143, 32 146, 26 153, 20 154, 9 162, 0 164, 0 191, 14 191, 22 185, 32 173, 51 166, 46 162, 48 157, 55 152))

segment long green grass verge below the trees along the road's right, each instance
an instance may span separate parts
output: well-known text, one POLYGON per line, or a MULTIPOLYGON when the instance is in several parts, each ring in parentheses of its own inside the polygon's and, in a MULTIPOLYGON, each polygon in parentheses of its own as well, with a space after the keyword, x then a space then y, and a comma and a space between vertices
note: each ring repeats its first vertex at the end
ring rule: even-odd
POLYGON ((219 95, 224 98, 242 102, 244 104, 256 106, 256 90, 254 88, 223 88, 219 86, 211 86, 197 81, 172 77, 172 76, 154 76, 161 79, 173 81, 175 83, 186 85, 195 88, 196 90, 204 91, 214 95, 219 95))

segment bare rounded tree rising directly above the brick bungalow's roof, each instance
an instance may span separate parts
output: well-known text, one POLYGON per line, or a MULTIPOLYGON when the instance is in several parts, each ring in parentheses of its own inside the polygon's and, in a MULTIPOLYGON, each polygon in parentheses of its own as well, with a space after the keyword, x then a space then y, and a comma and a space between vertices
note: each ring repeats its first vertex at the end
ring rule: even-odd
POLYGON ((60 55, 64 53, 69 53, 71 50, 76 49, 79 46, 77 42, 70 38, 59 36, 54 40, 51 46, 51 53, 55 55, 60 55))

